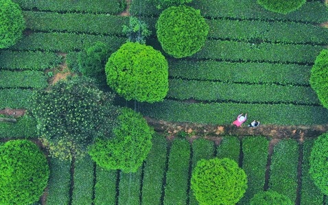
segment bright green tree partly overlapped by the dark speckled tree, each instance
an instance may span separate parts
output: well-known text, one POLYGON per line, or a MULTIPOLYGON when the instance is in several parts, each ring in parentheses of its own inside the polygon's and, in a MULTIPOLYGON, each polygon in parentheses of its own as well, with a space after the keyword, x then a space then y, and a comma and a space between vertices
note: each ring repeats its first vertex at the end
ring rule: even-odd
POLYGON ((154 131, 142 115, 122 109, 112 139, 98 139, 89 149, 93 161, 106 169, 137 172, 152 147, 154 131))

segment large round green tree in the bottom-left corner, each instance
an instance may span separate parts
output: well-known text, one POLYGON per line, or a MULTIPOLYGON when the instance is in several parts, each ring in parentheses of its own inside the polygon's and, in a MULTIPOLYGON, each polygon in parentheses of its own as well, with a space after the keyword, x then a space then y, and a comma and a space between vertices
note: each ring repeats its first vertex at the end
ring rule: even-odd
POLYGON ((0 146, 0 170, 0 204, 32 204, 47 187, 47 159, 31 141, 7 141, 0 146))

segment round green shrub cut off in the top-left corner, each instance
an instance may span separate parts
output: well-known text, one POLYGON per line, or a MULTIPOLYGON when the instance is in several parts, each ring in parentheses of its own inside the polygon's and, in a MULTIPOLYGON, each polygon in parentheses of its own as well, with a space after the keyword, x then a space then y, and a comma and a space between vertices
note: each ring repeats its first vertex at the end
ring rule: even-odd
POLYGON ((0 5, 0 49, 5 49, 22 38, 25 20, 18 4, 1 0, 0 5))

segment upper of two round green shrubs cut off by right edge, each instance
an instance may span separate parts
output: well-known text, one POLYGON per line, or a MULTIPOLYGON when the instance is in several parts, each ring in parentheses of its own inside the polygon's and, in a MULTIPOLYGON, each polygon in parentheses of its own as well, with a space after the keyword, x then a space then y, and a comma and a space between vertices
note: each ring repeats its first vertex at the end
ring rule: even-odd
POLYGON ((323 107, 328 108, 328 49, 323 49, 314 61, 309 79, 323 107))

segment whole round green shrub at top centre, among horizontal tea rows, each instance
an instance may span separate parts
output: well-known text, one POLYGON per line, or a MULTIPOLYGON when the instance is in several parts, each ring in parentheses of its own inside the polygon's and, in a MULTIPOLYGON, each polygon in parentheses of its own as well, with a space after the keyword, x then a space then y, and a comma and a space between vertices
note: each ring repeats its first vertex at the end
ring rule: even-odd
POLYGON ((163 50, 173 57, 187 57, 204 46, 209 26, 200 10, 180 5, 164 10, 156 23, 156 33, 163 50))

